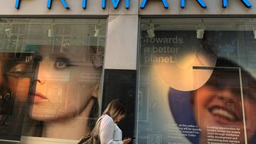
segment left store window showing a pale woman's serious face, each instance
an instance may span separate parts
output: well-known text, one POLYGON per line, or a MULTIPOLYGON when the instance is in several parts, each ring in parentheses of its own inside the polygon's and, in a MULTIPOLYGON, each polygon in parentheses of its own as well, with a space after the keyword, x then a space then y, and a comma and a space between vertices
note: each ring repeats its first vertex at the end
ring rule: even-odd
POLYGON ((90 133, 105 35, 105 19, 0 18, 0 139, 90 133))

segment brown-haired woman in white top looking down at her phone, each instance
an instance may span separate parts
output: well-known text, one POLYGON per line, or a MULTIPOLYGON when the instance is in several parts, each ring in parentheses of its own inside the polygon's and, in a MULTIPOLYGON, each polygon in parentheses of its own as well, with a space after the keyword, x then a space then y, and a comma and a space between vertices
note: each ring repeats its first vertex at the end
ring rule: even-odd
POLYGON ((114 99, 108 104, 107 109, 100 117, 100 143, 101 144, 127 144, 131 138, 122 140, 122 131, 117 126, 125 116, 124 102, 114 99))

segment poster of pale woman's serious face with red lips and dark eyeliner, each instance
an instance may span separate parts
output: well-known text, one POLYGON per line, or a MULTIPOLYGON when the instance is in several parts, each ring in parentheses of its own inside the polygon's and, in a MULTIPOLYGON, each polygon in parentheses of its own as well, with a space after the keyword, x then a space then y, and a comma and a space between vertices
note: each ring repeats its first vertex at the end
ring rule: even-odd
POLYGON ((103 48, 41 45, 24 135, 79 140, 99 116, 103 48))

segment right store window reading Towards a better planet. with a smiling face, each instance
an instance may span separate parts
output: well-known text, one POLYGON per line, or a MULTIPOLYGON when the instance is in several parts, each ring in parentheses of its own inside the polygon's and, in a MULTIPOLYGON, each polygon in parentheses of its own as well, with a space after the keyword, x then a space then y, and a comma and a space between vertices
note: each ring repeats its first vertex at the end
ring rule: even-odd
POLYGON ((255 35, 255 18, 142 18, 137 143, 256 143, 255 35))

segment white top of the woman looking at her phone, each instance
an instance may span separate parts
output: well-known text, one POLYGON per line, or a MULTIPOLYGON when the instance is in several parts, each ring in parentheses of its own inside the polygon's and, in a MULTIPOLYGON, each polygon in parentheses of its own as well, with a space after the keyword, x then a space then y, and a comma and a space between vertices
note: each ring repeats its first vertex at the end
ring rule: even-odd
POLYGON ((123 144, 122 131, 107 114, 100 121, 100 144, 123 144))

